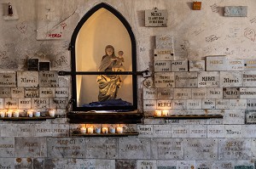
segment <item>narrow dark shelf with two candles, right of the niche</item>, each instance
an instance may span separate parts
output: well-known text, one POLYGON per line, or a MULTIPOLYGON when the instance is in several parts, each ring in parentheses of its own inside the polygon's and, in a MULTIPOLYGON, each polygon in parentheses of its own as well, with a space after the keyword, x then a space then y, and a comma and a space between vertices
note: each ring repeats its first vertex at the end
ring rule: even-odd
POLYGON ((211 119, 211 118, 223 118, 223 115, 167 115, 167 116, 156 116, 154 118, 165 118, 165 119, 211 119))

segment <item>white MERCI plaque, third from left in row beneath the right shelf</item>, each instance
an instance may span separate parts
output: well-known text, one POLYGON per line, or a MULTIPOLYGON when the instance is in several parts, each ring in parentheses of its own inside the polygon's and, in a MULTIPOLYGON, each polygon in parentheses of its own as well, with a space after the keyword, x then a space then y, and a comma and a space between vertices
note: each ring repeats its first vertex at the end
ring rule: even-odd
POLYGON ((189 138, 188 125, 172 125, 172 138, 189 138))

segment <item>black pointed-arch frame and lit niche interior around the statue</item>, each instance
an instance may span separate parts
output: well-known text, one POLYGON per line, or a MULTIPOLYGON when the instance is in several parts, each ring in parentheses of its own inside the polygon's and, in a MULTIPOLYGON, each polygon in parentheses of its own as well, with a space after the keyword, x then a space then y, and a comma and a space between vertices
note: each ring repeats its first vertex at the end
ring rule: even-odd
POLYGON ((73 111, 108 110, 113 113, 137 110, 136 41, 131 26, 122 14, 107 3, 91 8, 75 28, 70 49, 73 111), (129 105, 91 106, 91 103, 98 102, 97 76, 106 73, 98 71, 98 68, 107 45, 114 47, 116 55, 118 51, 124 52, 125 71, 112 73, 122 76, 122 86, 116 99, 125 100, 131 103, 129 105))

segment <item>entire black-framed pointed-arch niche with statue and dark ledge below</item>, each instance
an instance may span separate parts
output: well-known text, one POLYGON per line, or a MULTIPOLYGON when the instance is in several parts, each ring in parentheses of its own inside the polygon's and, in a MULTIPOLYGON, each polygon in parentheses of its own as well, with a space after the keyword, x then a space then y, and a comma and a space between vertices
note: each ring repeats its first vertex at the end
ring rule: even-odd
POLYGON ((97 4, 73 31, 70 50, 73 104, 72 112, 67 115, 70 122, 140 122, 142 114, 137 112, 136 41, 124 16, 107 3, 97 4), (105 51, 108 45, 114 48, 114 54, 109 59, 105 51), (112 63, 102 70, 109 60, 112 63), (101 100, 100 80, 113 81, 113 76, 118 78, 106 91, 116 88, 117 92, 113 94, 116 97, 101 100), (110 80, 108 77, 111 77, 110 80))

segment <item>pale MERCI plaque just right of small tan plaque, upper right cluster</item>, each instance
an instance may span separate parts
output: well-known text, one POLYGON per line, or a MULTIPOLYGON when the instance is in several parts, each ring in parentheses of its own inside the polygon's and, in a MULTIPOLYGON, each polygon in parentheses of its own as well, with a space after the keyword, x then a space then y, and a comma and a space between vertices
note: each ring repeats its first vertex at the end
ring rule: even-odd
POLYGON ((227 70, 227 57, 223 55, 207 56, 207 71, 227 70))

